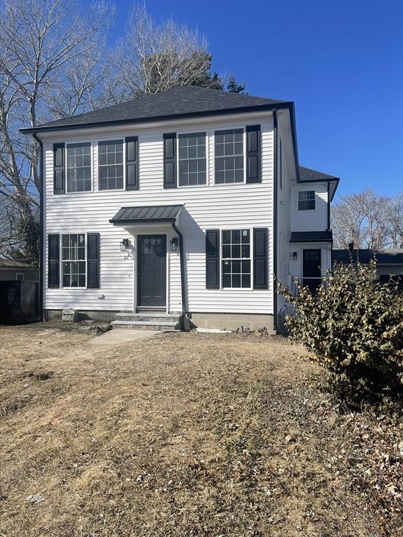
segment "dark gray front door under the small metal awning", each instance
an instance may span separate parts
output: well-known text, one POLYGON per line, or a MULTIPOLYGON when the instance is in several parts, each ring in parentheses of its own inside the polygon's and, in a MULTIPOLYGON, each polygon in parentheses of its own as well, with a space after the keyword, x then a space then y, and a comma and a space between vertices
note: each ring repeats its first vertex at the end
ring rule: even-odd
POLYGON ((137 306, 167 303, 167 236, 139 235, 137 238, 137 306))

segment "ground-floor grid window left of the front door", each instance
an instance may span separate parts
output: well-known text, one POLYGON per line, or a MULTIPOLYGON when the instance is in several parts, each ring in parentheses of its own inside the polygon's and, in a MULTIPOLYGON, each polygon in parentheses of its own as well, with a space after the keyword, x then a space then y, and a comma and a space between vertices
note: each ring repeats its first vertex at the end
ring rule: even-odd
POLYGON ((62 235, 62 285, 85 287, 85 235, 62 235))

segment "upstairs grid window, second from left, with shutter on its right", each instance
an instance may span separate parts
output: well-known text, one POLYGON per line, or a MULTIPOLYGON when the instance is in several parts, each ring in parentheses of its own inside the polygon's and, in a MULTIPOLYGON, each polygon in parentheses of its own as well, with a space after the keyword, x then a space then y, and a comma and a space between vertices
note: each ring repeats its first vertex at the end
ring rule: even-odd
POLYGON ((98 142, 98 189, 123 188, 123 140, 98 142))

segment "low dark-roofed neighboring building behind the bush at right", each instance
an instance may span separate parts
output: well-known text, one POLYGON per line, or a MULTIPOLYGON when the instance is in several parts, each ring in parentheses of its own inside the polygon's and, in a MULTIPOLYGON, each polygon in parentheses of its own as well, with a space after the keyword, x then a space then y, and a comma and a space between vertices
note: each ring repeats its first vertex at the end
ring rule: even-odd
POLYGON ((403 283, 403 249, 400 250, 354 250, 353 244, 348 250, 333 250, 333 262, 353 264, 357 260, 369 264, 376 259, 376 279, 388 283, 390 279, 403 283))

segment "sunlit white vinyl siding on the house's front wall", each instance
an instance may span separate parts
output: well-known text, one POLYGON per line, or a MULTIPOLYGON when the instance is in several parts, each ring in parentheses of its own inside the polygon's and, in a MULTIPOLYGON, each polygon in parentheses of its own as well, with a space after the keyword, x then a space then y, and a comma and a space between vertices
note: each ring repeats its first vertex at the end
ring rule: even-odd
MULTIPOLYGON (((196 130, 195 130, 196 131, 196 130)), ((163 141, 164 132, 186 134, 189 126, 173 124, 169 127, 127 127, 126 129, 97 129, 92 134, 92 164, 94 192, 79 195, 53 194, 52 143, 74 141, 83 136, 55 134, 44 141, 45 148, 45 234, 81 233, 97 231, 100 234, 100 289, 49 289, 45 287, 45 308, 62 309, 67 306, 81 310, 132 311, 136 296, 136 241, 134 231, 114 227, 109 220, 122 206, 157 206, 181 203, 179 229, 183 233, 185 250, 185 281, 187 308, 190 312, 216 313, 272 313, 273 298, 273 127, 270 117, 253 116, 248 120, 199 124, 197 132, 206 132, 207 184, 196 187, 164 189, 163 141), (213 140, 216 130, 244 129, 246 124, 260 124, 262 134, 262 182, 215 185, 213 177, 213 140), (99 190, 98 150, 100 138, 117 140, 125 136, 139 137, 139 182, 136 191, 99 190), (269 230, 269 289, 206 289, 206 229, 269 230), (134 252, 120 252, 120 241, 128 238, 134 252)), ((86 136, 90 136, 87 132, 86 136)), ((171 227, 156 233, 176 236, 171 227)), ((144 231, 139 231, 142 234, 144 231)), ((148 232, 148 231, 147 231, 148 232)), ((45 271, 47 271, 47 244, 45 243, 45 271)), ((169 252, 168 308, 181 311, 181 271, 179 252, 169 252)))

